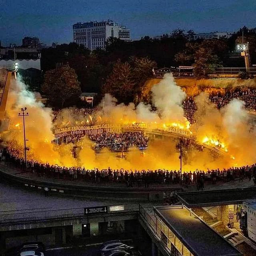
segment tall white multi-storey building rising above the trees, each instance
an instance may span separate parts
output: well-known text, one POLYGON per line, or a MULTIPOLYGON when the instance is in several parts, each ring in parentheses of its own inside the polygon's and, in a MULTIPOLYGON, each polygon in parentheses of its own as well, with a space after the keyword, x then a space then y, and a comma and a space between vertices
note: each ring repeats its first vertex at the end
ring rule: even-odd
POLYGON ((73 41, 83 44, 89 50, 104 49, 109 37, 130 41, 130 30, 112 20, 78 22, 73 25, 73 41))

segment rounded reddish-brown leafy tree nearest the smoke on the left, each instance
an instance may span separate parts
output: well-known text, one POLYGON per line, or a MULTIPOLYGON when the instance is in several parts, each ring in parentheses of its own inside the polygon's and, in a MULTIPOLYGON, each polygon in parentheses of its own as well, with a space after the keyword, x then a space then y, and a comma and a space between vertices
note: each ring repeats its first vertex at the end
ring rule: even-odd
POLYGON ((81 94, 79 82, 74 69, 61 66, 45 73, 42 92, 49 103, 56 108, 63 108, 79 99, 81 94))

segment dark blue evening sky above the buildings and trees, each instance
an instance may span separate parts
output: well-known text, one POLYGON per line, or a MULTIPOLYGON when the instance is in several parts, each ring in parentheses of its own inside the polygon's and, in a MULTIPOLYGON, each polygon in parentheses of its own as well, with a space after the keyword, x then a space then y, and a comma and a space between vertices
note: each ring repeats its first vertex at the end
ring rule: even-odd
POLYGON ((256 27, 256 0, 0 0, 0 40, 71 42, 72 24, 106 19, 130 28, 132 39, 175 28, 233 32, 256 27))

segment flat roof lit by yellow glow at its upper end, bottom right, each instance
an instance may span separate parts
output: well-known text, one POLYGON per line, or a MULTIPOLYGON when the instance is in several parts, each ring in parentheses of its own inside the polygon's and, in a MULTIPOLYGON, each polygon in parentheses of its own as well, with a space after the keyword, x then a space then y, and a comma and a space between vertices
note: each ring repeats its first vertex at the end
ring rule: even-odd
POLYGON ((188 208, 164 206, 155 209, 156 214, 194 256, 242 255, 232 244, 200 220, 196 214, 192 212, 190 216, 188 208))

